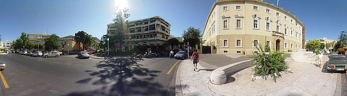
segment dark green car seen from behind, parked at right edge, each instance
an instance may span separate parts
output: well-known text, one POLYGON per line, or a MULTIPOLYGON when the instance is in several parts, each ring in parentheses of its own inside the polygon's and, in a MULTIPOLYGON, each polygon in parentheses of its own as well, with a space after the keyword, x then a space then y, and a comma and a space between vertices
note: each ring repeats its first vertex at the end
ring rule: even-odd
POLYGON ((328 71, 345 71, 347 70, 347 58, 345 55, 332 54, 328 62, 328 71))

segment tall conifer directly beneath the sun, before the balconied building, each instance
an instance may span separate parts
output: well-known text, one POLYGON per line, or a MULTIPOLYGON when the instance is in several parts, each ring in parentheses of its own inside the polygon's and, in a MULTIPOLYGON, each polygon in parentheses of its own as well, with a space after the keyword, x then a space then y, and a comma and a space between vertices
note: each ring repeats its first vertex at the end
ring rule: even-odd
MULTIPOLYGON (((112 35, 112 38, 110 38, 110 42, 115 42, 115 44, 124 44, 126 40, 128 40, 129 35, 129 29, 128 29, 128 20, 127 19, 130 14, 127 14, 127 11, 129 9, 118 9, 118 13, 115 12, 116 17, 113 18, 113 22, 115 23, 115 29, 116 33, 112 35)), ((113 45, 112 45, 113 46, 113 45)))

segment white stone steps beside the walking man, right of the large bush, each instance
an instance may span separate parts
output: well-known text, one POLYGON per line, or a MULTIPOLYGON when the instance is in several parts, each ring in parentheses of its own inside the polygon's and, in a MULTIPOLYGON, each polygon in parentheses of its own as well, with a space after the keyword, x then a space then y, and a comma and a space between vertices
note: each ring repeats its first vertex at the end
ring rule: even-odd
POLYGON ((293 58, 294 61, 297 61, 297 62, 305 62, 305 63, 314 64, 318 61, 318 55, 316 55, 312 51, 306 52, 306 50, 299 50, 296 52, 291 52, 290 57, 293 58))

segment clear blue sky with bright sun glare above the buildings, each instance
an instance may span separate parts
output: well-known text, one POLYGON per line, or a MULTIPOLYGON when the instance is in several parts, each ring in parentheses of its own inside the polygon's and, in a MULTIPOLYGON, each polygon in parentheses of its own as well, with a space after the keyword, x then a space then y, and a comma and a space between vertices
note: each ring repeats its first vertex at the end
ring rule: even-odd
MULTIPOLYGON (((160 16, 171 24, 171 34, 181 36, 192 26, 204 28, 215 0, 127 0, 128 20, 160 16), (154 6, 155 5, 155 6, 154 6)), ((277 0, 264 0, 276 5, 277 0)), ((306 25, 306 40, 336 40, 347 31, 347 0, 280 0, 306 25)), ((0 0, 2 40, 15 40, 20 33, 48 33, 60 37, 79 30, 100 38, 106 34, 116 11, 115 0, 0 0)))

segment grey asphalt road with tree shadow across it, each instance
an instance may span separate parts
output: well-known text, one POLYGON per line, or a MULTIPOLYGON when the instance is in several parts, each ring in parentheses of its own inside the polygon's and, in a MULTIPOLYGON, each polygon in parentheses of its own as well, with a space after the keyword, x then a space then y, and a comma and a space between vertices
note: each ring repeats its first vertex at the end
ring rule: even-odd
POLYGON ((180 62, 169 58, 142 60, 79 59, 0 55, 6 63, 0 86, 5 96, 167 96, 175 95, 180 62), (168 73, 174 64, 178 64, 168 73))

